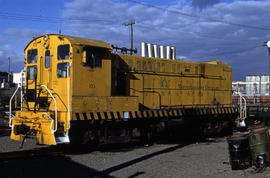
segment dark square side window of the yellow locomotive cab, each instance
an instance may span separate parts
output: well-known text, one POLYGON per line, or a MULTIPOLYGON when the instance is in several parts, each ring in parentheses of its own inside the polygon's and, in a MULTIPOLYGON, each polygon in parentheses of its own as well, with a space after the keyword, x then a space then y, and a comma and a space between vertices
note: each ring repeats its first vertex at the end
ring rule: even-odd
POLYGON ((83 49, 83 66, 100 68, 102 67, 102 57, 104 54, 104 49, 84 47, 83 49))

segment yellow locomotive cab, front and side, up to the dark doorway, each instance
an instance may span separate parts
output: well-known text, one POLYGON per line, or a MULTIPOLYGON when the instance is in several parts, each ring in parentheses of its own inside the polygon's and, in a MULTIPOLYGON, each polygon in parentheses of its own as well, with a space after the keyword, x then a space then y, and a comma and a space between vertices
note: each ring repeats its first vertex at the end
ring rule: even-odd
POLYGON ((98 111, 98 100, 111 96, 111 50, 102 41, 62 35, 32 40, 25 48, 23 108, 10 118, 11 139, 70 142, 72 110, 98 111))

